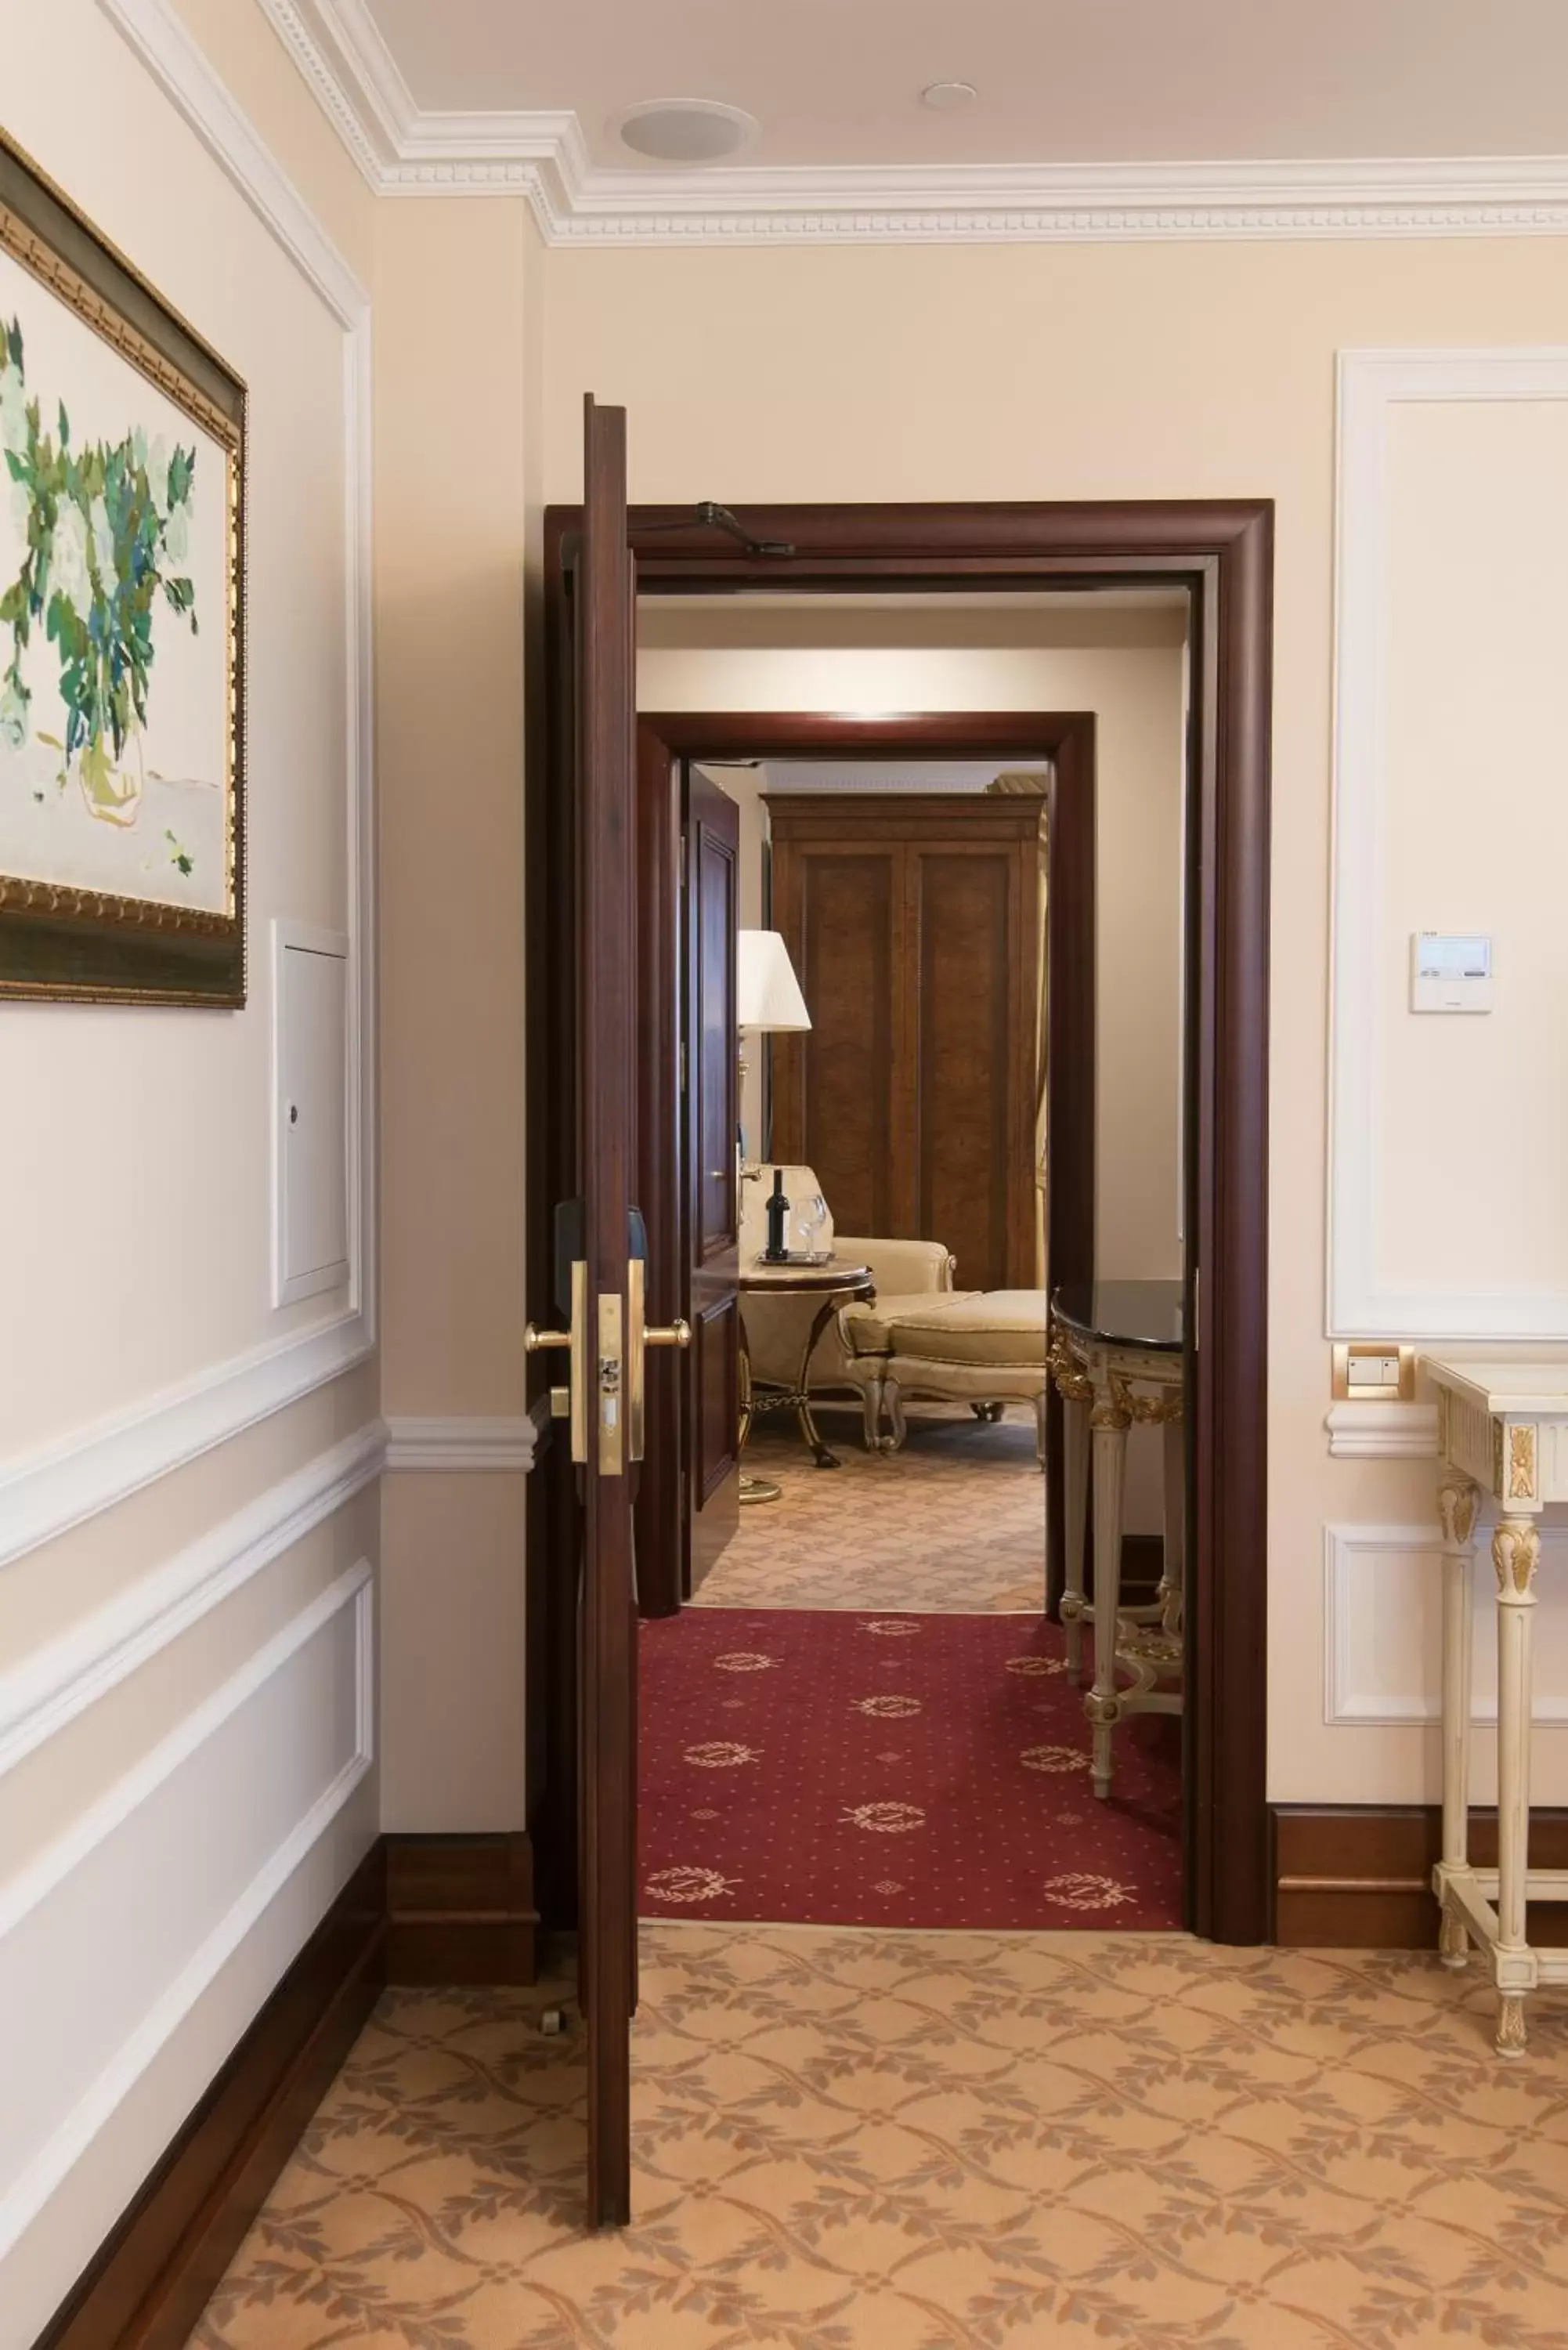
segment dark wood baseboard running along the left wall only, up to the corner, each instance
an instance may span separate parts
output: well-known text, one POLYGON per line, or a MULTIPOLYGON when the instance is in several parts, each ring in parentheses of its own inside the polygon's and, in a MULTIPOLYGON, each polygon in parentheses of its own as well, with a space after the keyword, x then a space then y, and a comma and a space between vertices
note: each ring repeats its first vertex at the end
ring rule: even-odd
POLYGON ((348 1880, 35 2350, 183 2350, 383 1983, 386 1856, 348 1880))

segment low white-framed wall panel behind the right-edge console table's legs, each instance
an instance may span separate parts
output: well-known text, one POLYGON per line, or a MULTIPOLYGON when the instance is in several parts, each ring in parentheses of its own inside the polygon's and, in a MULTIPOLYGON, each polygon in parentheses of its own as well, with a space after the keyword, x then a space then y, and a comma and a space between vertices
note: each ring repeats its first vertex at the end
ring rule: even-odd
MULTIPOLYGON (((1356 1730, 1441 1720, 1443 1560, 1432 1525, 1324 1528, 1324 1718, 1356 1730)), ((1535 1720, 1568 1723, 1568 1525, 1542 1520, 1535 1579, 1535 1720)), ((1490 1525, 1474 1565, 1476 1723, 1497 1720, 1490 1525)))

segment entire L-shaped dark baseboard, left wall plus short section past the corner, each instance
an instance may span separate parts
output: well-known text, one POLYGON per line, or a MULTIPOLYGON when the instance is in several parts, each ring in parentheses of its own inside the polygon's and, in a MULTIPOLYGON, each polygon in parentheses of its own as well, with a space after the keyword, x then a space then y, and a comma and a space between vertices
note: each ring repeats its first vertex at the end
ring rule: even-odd
POLYGON ((531 1983, 527 1835, 386 1835, 33 2350, 183 2350, 386 1983, 531 1983))

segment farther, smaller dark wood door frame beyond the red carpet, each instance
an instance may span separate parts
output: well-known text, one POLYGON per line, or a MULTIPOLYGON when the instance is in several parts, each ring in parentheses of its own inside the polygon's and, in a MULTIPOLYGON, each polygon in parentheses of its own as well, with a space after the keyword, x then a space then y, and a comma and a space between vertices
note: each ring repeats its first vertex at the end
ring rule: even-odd
MULTIPOLYGON (((679 867, 679 771, 703 759, 1051 759, 1046 797, 1048 940, 1048 1246, 1058 1281, 1093 1274, 1095 1234, 1095 719, 1091 710, 924 710, 856 719, 842 712, 679 710, 637 714, 637 985, 642 1013, 637 1166, 649 1224, 649 1297, 658 1318, 684 1314, 675 1283, 682 1123, 679 968, 672 874, 679 867), (1060 1137, 1060 1152, 1058 1152, 1060 1137)), ((637 1589, 644 1614, 679 1607, 677 1363, 649 1365, 649 1457, 637 1499, 637 1589), (675 1438, 675 1441, 672 1441, 675 1438)), ((1063 1589, 1060 1403, 1048 1426, 1046 1473, 1051 1605, 1063 1589)))

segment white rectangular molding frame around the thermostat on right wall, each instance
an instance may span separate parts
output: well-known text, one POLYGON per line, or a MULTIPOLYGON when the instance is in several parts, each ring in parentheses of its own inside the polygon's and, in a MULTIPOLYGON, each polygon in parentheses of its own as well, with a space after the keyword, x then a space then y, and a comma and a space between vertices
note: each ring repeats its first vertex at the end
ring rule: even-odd
POLYGON ((1568 348, 1342 350, 1338 369, 1328 1335, 1568 1340, 1568 1290, 1410 1285, 1380 1262, 1387 968, 1389 421, 1410 402, 1568 402, 1568 348))

